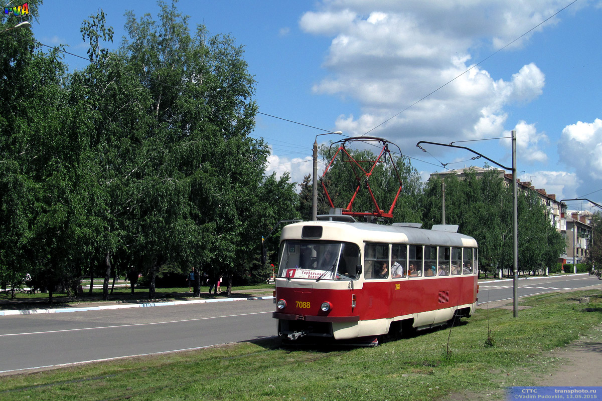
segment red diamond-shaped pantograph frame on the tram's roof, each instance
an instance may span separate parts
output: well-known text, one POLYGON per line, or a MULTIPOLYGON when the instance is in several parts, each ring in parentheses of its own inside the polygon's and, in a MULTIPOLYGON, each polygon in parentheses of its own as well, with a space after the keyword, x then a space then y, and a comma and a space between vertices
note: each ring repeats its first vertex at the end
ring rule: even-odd
MULTIPOLYGON (((349 162, 351 169, 353 171, 353 174, 355 175, 355 179, 358 181, 358 187, 355 189, 355 193, 353 194, 351 200, 349 201, 349 204, 347 204, 347 207, 343 208, 343 214, 344 215, 349 215, 349 216, 354 216, 354 217, 359 217, 359 216, 374 216, 374 217, 389 217, 392 218, 393 217, 393 209, 395 208, 395 204, 397 203, 397 198, 399 198, 399 194, 402 192, 402 180, 399 177, 399 171, 397 170, 397 166, 395 165, 395 161, 393 160, 393 156, 391 156, 391 152, 389 151, 389 144, 395 145, 393 142, 389 142, 386 139, 383 138, 376 138, 375 136, 356 136, 353 138, 346 138, 346 139, 341 139, 341 141, 337 141, 337 142, 333 142, 332 145, 330 145, 330 147, 332 148, 332 146, 334 146, 335 144, 339 144, 339 147, 337 149, 337 152, 335 152, 335 155, 332 157, 332 159, 330 160, 330 163, 326 166, 326 170, 324 170, 324 173, 322 174, 322 188, 324 189, 324 194, 326 194, 326 198, 328 200, 328 203, 330 204, 330 207, 335 207, 334 204, 332 203, 332 199, 330 199, 330 195, 328 194, 328 191, 326 189, 326 185, 324 184, 324 176, 326 176, 326 173, 328 172, 328 170, 330 169, 330 166, 332 165, 332 163, 335 161, 335 159, 337 158, 337 156, 339 155, 339 153, 341 154, 341 157, 347 157, 346 162, 349 162), (382 144, 382 149, 380 150, 380 154, 378 155, 378 157, 376 158, 375 161, 356 161, 353 156, 351 156, 349 154, 349 152, 347 152, 347 149, 345 148, 345 145, 347 144, 347 142, 380 142, 382 144), (381 158, 384 159, 383 161, 381 161, 381 158), (370 176, 372 175, 372 172, 374 171, 374 167, 376 167, 376 164, 379 162, 384 162, 386 161, 386 157, 389 157, 389 160, 391 161, 391 164, 393 165, 393 170, 395 171, 395 174, 397 176, 397 181, 399 181, 399 189, 397 189, 397 194, 395 195, 395 198, 393 200, 393 204, 391 204, 391 208, 389 209, 389 212, 385 212, 385 210, 380 209, 376 198, 374 198, 374 194, 372 192, 372 189, 370 188, 370 183, 368 182, 370 180, 370 176), (365 170, 360 163, 372 163, 371 167, 368 170, 365 170), (363 174, 359 173, 359 170, 361 170, 361 172, 363 174), (368 189, 368 193, 370 194, 370 198, 372 200, 372 203, 374 204, 374 208, 375 210, 373 212, 353 212, 353 201, 355 201, 356 196, 358 195, 359 192, 359 188, 362 186, 362 178, 365 177, 365 185, 366 188, 368 189)), ((399 146, 395 145, 398 149, 399 146)), ((399 153, 401 154, 402 151, 399 150, 399 153)))

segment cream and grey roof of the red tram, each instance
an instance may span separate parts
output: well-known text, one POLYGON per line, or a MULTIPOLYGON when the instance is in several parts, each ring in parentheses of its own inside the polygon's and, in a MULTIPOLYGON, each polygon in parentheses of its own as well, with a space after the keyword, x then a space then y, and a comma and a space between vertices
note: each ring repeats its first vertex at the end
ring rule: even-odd
POLYGON ((449 231, 426 230, 425 228, 408 227, 404 225, 383 225, 365 222, 341 221, 303 221, 286 225, 282 228, 285 238, 301 238, 305 226, 322 226, 329 231, 340 231, 339 240, 346 237, 361 237, 366 242, 407 242, 418 244, 435 244, 450 246, 477 246, 476 240, 468 235, 449 231))

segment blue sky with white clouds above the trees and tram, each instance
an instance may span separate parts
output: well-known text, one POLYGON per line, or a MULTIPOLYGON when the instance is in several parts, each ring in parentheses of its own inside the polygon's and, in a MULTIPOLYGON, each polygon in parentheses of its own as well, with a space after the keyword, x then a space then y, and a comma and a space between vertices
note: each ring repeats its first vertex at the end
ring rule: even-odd
MULTIPOLYGON (((358 136, 569 4, 571 0, 182 0, 177 7, 190 16, 190 26, 204 24, 211 34, 229 33, 245 46, 260 112, 358 136)), ((33 26, 36 38, 49 45, 68 44, 69 51, 85 57, 79 26, 99 8, 116 31, 108 47, 119 46, 126 10, 138 17, 158 13, 154 1, 46 1, 33 26)), ((448 168, 483 163, 465 162, 473 155, 445 147, 428 147, 431 156, 416 142, 498 138, 515 129, 521 180, 531 180, 558 200, 585 197, 602 203, 600 21, 600 0, 578 0, 370 135, 399 145, 426 179, 444 170, 438 160, 449 163, 448 168)), ((85 65, 69 55, 65 61, 73 69, 85 65)), ((312 144, 323 132, 258 115, 253 136, 272 147, 268 171, 290 171, 300 181, 311 172, 312 144)), ((464 145, 511 165, 507 139, 464 145)))

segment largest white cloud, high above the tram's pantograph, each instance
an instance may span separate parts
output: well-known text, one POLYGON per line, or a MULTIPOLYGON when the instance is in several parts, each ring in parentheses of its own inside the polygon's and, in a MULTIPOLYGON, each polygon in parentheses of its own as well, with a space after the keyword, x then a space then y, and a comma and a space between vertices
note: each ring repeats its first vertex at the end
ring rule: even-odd
MULTIPOLYGON (((501 136, 504 108, 541 95, 545 75, 530 63, 509 81, 494 79, 472 64, 471 50, 508 43, 561 8, 560 0, 528 3, 323 0, 300 20, 305 32, 333 37, 324 59, 329 75, 313 91, 359 102, 361 114, 337 119, 337 130, 348 135, 363 135, 409 107, 373 135, 414 143, 501 136)), ((529 135, 528 158, 545 161, 538 148, 545 135, 529 135)))

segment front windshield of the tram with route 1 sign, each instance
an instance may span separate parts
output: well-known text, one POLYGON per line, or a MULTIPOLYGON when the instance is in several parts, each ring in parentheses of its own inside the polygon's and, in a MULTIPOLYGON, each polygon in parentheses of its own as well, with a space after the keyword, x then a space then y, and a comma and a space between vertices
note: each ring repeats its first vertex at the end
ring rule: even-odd
POLYGON ((281 244, 278 277, 307 280, 356 280, 355 243, 287 240, 281 244))

